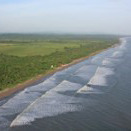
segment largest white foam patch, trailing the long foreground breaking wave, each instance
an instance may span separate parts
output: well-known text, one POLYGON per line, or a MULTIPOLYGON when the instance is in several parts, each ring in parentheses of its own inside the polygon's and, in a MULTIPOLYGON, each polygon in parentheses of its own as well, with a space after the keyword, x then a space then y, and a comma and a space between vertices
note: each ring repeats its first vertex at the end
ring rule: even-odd
POLYGON ((76 98, 59 94, 58 92, 76 91, 81 85, 63 81, 57 87, 48 91, 34 103, 28 106, 17 118, 12 122, 11 126, 20 126, 30 124, 36 118, 51 117, 66 112, 80 110, 81 106, 71 104, 76 102, 76 98))

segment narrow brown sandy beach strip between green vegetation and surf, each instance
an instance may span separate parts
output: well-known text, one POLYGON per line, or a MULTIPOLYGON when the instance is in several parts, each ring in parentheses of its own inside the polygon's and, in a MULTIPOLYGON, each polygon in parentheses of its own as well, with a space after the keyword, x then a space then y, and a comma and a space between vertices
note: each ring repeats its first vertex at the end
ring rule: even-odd
POLYGON ((5 90, 3 90, 3 91, 0 91, 0 100, 3 99, 3 98, 5 98, 5 97, 7 97, 7 96, 10 96, 10 95, 12 95, 12 94, 14 94, 14 93, 17 93, 17 92, 20 91, 20 90, 23 90, 23 89, 25 89, 25 88, 28 88, 29 86, 31 86, 31 85, 33 85, 33 84, 35 84, 35 83, 37 83, 37 82, 40 82, 40 80, 42 80, 42 78, 43 78, 43 79, 46 79, 46 77, 49 77, 49 76, 55 74, 55 73, 58 72, 58 71, 64 70, 64 69, 66 69, 66 68, 68 68, 68 67, 70 67, 70 66, 72 66, 72 65, 78 64, 78 63, 80 63, 80 62, 82 62, 82 61, 85 61, 86 59, 88 59, 88 58, 90 58, 90 57, 92 57, 92 56, 95 56, 95 55, 97 55, 97 54, 99 54, 99 53, 101 53, 101 52, 103 52, 103 51, 105 51, 105 50, 108 50, 109 48, 115 48, 115 47, 118 46, 119 44, 121 44, 121 42, 120 42, 120 43, 117 43, 117 44, 114 44, 113 46, 108 47, 108 48, 106 48, 106 49, 101 49, 101 50, 99 50, 99 51, 93 52, 93 53, 91 53, 91 54, 88 55, 88 56, 75 59, 75 60, 73 60, 72 62, 70 62, 70 63, 68 63, 68 64, 64 64, 64 65, 61 65, 61 66, 59 66, 59 67, 56 67, 56 68, 54 68, 54 69, 52 69, 52 70, 47 71, 46 73, 39 74, 39 75, 37 75, 37 76, 29 79, 29 80, 26 80, 26 81, 24 81, 24 82, 22 82, 22 83, 17 84, 16 86, 14 86, 14 87, 12 87, 12 88, 7 88, 7 89, 5 89, 5 90))

